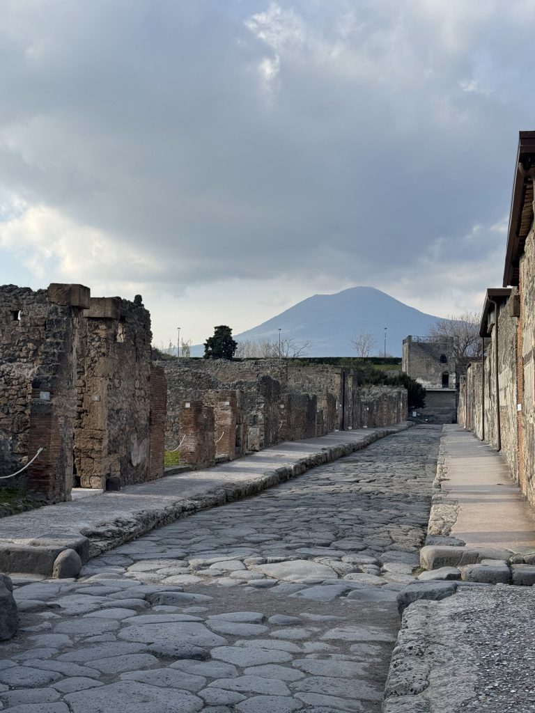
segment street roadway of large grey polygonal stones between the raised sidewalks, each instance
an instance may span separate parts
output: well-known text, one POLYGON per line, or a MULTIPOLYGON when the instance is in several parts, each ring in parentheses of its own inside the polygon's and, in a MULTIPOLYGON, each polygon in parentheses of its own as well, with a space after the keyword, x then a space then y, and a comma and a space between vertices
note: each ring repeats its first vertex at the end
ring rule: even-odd
POLYGON ((3 709, 378 713, 440 432, 401 431, 190 515, 77 581, 14 578, 21 630, 0 646, 3 709))

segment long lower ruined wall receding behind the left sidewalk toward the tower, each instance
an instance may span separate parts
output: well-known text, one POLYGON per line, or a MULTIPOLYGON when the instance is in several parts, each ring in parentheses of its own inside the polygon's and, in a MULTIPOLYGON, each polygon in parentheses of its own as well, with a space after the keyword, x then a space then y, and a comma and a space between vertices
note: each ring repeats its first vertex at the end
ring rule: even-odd
MULTIPOLYGON (((407 418, 404 389, 378 387, 362 395, 355 371, 338 366, 303 366, 289 359, 164 359, 158 363, 168 383, 165 443, 169 450, 183 442, 186 431, 188 438, 194 432, 204 438, 199 415, 195 420, 188 414, 187 428, 183 424, 185 399, 214 409, 214 458, 239 457, 281 439, 295 441, 325 436, 335 429, 384 426, 407 418)), ((187 462, 196 467, 210 463, 192 443, 188 453, 187 462), (193 462, 195 453, 200 458, 197 463, 193 462)), ((180 458, 183 461, 182 449, 180 458)))

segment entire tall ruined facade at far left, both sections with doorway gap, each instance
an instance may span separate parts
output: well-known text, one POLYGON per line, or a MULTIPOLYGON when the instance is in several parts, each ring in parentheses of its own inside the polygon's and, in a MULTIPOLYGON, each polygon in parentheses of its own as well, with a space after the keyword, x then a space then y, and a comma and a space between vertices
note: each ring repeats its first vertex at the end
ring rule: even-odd
POLYGON ((49 502, 163 473, 167 389, 146 309, 88 287, 0 287, 0 481, 49 502), (159 424, 159 426, 158 426, 159 424))

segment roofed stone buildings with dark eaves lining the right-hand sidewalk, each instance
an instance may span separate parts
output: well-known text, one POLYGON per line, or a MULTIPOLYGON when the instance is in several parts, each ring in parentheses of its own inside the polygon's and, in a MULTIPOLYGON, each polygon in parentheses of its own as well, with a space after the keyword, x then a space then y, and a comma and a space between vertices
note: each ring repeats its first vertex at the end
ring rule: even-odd
POLYGON ((495 446, 535 506, 535 132, 516 155, 503 287, 489 289, 480 335, 486 357, 472 363, 459 396, 459 423, 495 446))

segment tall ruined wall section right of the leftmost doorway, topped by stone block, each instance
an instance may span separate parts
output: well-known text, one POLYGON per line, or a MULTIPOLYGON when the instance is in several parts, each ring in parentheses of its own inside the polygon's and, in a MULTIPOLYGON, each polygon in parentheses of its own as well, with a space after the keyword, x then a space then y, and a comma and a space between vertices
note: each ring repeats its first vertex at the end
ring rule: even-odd
POLYGON ((91 298, 81 323, 75 466, 85 488, 150 477, 151 317, 119 297, 91 298))

